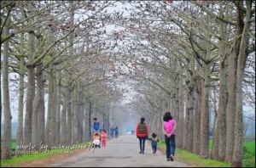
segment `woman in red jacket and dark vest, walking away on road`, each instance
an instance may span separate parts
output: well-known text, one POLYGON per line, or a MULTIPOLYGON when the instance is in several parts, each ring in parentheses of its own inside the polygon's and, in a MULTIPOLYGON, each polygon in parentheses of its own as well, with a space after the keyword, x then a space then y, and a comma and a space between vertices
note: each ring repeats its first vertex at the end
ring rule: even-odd
POLYGON ((137 124, 136 135, 140 141, 140 154, 144 154, 145 141, 148 139, 148 126, 144 123, 145 118, 141 118, 141 122, 137 124))

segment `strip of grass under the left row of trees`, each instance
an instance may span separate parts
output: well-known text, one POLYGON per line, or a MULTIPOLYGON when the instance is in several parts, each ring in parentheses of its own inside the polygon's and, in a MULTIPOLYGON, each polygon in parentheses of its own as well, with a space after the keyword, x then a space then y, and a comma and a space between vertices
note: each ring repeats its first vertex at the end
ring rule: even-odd
MULTIPOLYGON (((90 141, 91 142, 91 141, 90 141)), ((78 143, 78 148, 84 148, 84 146, 89 142, 84 143, 78 143)), ((11 143, 12 148, 16 148, 15 143, 11 143)), ((45 150, 44 150, 45 151, 45 150)), ((34 154, 22 154, 21 157, 13 156, 10 160, 1 160, 1 167, 9 167, 9 166, 15 166, 20 165, 23 163, 26 163, 31 160, 42 160, 45 158, 51 157, 53 154, 67 154, 70 152, 70 154, 73 154, 73 150, 71 148, 57 148, 57 149, 51 149, 50 151, 46 151, 45 153, 34 153, 34 154)))

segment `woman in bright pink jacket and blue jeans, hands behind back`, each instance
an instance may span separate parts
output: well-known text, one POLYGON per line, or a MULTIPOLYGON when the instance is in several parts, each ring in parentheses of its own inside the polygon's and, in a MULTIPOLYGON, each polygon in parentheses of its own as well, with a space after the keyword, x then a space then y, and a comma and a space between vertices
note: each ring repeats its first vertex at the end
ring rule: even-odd
POLYGON ((176 136, 176 120, 172 118, 170 112, 166 112, 163 117, 164 125, 163 132, 165 134, 166 141, 166 159, 167 161, 173 161, 173 157, 175 154, 176 144, 175 144, 175 136, 176 136))

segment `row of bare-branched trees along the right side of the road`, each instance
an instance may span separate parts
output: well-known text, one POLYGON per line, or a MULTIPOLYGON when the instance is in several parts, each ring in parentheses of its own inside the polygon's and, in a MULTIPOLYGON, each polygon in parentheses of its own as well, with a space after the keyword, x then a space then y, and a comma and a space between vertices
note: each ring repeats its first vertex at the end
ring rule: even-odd
POLYGON ((130 53, 134 71, 127 75, 140 93, 134 104, 152 129, 161 132, 161 116, 170 110, 177 119, 177 147, 208 158, 213 110, 211 158, 232 166, 242 164, 243 106, 255 109, 253 4, 137 2, 125 8, 130 18, 116 21, 136 35, 119 51, 130 53))

